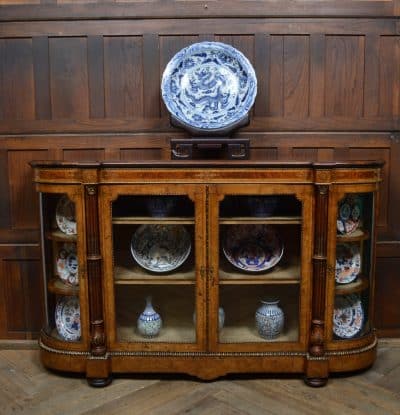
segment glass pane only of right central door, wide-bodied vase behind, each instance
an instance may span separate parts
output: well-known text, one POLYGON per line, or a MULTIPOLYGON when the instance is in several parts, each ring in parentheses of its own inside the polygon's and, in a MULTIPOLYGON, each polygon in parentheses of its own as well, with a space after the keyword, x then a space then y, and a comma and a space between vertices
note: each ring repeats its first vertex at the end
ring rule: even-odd
POLYGON ((299 341, 301 225, 294 195, 220 203, 220 343, 299 341))

